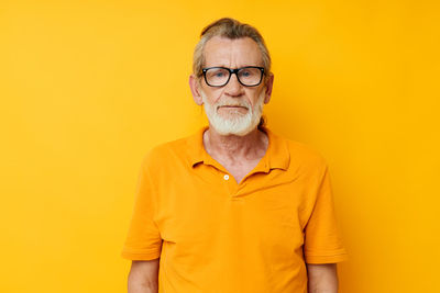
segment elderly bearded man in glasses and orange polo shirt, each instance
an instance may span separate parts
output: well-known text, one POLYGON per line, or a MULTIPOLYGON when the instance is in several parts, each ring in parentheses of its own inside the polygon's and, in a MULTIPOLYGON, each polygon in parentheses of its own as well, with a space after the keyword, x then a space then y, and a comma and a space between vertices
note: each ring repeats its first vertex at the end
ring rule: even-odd
POLYGON ((201 33, 189 86, 209 127, 146 154, 122 256, 129 292, 331 293, 348 258, 326 160, 262 120, 272 94, 260 33, 201 33))

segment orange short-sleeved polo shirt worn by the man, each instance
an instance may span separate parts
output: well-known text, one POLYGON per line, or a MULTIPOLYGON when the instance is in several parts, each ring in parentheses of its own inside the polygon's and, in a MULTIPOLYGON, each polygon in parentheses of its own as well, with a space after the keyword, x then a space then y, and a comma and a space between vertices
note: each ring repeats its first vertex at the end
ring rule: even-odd
POLYGON ((270 129, 240 183, 197 134, 146 154, 122 257, 161 258, 164 293, 307 293, 306 263, 348 259, 324 159, 270 129))

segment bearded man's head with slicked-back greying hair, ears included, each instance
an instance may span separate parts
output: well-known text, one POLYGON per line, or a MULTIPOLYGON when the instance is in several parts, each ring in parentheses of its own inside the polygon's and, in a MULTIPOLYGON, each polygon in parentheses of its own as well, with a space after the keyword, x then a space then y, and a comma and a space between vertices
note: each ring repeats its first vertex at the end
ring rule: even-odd
POLYGON ((194 52, 189 86, 195 102, 205 106, 210 126, 219 134, 246 135, 263 126, 263 104, 271 99, 273 78, 271 57, 256 29, 237 20, 221 19, 202 30, 194 52), (260 83, 245 86, 246 82, 240 82, 249 75, 243 69, 231 74, 224 86, 212 87, 202 71, 209 67, 237 69, 248 66, 263 68, 260 83))

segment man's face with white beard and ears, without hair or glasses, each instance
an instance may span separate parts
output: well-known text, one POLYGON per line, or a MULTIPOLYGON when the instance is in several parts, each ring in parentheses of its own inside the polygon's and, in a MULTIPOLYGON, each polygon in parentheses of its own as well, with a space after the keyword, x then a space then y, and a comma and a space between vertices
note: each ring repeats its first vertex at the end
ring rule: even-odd
MULTIPOLYGON (((249 37, 229 40, 212 37, 205 45, 204 67, 241 68, 245 66, 263 67, 262 54, 257 44, 249 37)), ((193 77, 194 78, 194 77, 193 77)), ((210 87, 204 79, 193 82, 196 103, 204 104, 210 125, 221 135, 245 135, 255 129, 267 103, 272 90, 270 82, 263 77, 262 83, 255 87, 241 84, 237 75, 231 75, 223 87, 210 87), (196 86, 197 83, 197 86, 196 86), (270 83, 266 87, 266 83, 270 83)))

